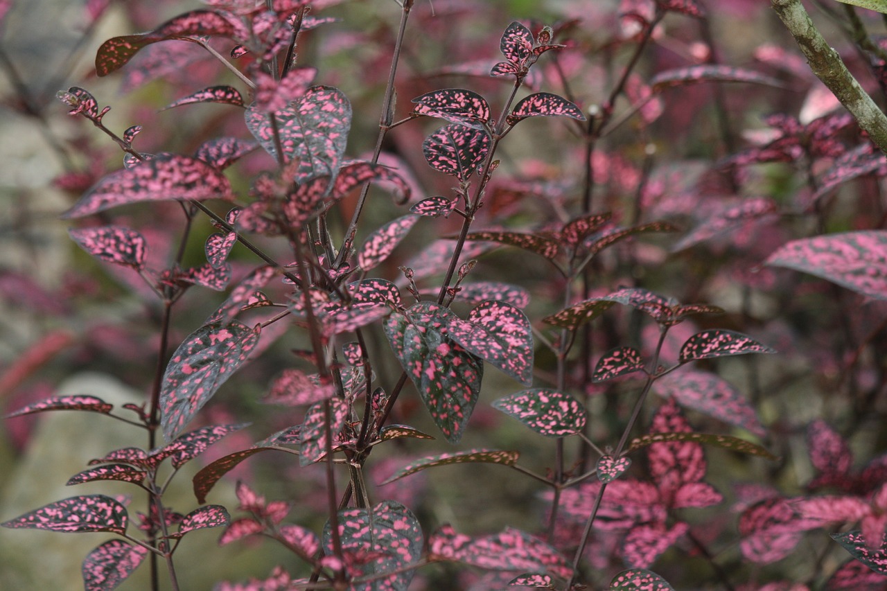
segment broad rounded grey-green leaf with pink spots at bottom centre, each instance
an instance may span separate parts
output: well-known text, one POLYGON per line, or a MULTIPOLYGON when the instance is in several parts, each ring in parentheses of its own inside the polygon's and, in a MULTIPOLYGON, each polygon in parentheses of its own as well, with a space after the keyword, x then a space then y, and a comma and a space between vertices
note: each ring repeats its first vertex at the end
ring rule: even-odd
MULTIPOLYGON (((422 528, 410 509, 393 500, 383 500, 372 508, 339 511, 339 539, 346 556, 359 575, 376 576, 360 587, 367 591, 405 591, 415 573, 406 569, 419 561, 424 538, 422 528), (383 576, 389 571, 400 571, 383 576)), ((323 544, 327 556, 334 555, 332 526, 326 523, 323 544)))

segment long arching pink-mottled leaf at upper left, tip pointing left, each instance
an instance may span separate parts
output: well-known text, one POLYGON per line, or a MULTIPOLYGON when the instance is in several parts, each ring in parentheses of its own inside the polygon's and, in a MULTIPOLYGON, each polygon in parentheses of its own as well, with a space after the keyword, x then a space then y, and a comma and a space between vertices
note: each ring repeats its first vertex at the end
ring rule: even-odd
POLYGON ((172 199, 231 199, 231 184, 202 160, 165 154, 102 178, 62 217, 90 216, 120 205, 172 199))

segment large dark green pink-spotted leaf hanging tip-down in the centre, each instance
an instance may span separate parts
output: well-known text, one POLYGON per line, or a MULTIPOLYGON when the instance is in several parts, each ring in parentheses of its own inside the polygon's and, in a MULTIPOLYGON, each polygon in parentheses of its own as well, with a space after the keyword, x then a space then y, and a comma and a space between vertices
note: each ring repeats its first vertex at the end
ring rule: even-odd
POLYGON ((483 363, 445 335, 458 317, 421 302, 391 314, 385 335, 431 418, 450 443, 458 443, 481 390, 483 363))

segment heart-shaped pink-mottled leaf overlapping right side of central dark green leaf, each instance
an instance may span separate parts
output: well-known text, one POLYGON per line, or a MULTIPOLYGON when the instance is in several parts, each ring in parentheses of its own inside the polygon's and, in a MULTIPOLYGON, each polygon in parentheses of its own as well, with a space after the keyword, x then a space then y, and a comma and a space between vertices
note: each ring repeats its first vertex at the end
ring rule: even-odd
POLYGON ((466 351, 529 386, 533 382, 530 320, 510 303, 483 302, 466 320, 452 319, 446 334, 466 351))

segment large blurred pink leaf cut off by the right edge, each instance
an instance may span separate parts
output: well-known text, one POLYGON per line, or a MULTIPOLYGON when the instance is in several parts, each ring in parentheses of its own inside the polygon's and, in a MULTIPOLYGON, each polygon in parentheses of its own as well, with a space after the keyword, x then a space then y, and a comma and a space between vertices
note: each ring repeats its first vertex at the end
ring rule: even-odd
POLYGON ((783 244, 764 264, 810 273, 844 288, 887 300, 887 232, 843 232, 783 244))

